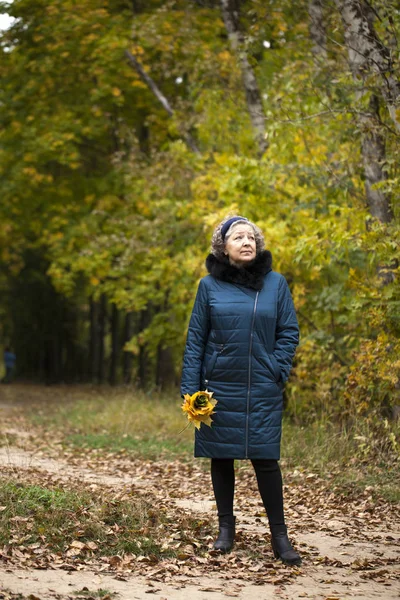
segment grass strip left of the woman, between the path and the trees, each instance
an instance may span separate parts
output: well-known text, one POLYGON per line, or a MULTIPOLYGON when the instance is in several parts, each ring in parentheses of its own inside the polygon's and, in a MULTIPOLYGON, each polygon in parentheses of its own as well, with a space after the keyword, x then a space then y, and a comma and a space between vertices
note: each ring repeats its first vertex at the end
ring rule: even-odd
POLYGON ((77 447, 126 451, 146 459, 191 459, 193 427, 182 431, 186 419, 179 394, 146 394, 100 388, 95 394, 82 387, 70 402, 35 406, 34 424, 62 433, 77 447))

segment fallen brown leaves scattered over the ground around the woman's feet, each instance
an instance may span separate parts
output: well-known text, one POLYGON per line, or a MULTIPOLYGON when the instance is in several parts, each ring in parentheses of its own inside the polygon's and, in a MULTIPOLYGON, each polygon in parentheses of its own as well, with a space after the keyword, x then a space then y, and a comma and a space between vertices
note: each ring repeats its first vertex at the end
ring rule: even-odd
MULTIPOLYGON (((21 416, 17 422, 13 420, 14 434, 21 423, 21 416)), ((23 431, 26 433, 26 425, 23 431)), ((216 534, 214 508, 211 512, 188 509, 198 507, 199 502, 205 507, 213 505, 209 475, 201 461, 151 461, 134 458, 124 451, 80 451, 66 448, 61 438, 55 439, 40 429, 31 430, 29 437, 24 435, 21 443, 24 452, 31 457, 52 459, 57 469, 35 467, 34 461, 21 468, 21 464, 8 461, 1 468, 4 481, 74 491, 78 496, 84 492, 86 504, 60 524, 58 534, 64 544, 57 548, 48 540, 46 531, 32 535, 33 516, 10 517, 10 537, 0 544, 0 569, 91 570, 112 573, 120 581, 140 574, 151 586, 198 585, 207 576, 215 577, 216 585, 200 585, 199 590, 229 597, 240 597, 241 590, 249 584, 273 585, 283 593, 305 577, 313 577, 322 587, 340 584, 347 588, 348 596, 352 594, 350 588, 363 582, 380 584, 382 590, 399 589, 399 540, 395 527, 399 523, 398 509, 372 496, 368 488, 364 492, 347 490, 344 494, 332 489, 329 478, 299 470, 284 473, 290 534, 304 559, 302 567, 289 568, 273 559, 264 509, 248 465, 241 464, 237 471, 239 527, 235 549, 221 555, 212 550, 216 534), (92 505, 87 504, 88 496, 92 505), (107 513, 106 522, 96 521, 100 501, 115 508, 114 522, 112 511, 107 513), (140 505, 141 521, 129 530, 127 521, 118 519, 117 513, 134 502, 140 505), (94 524, 98 526, 91 536, 88 524, 92 528, 94 524), (130 550, 119 547, 113 553, 113 545, 117 547, 123 536, 135 543, 130 550), (335 552, 321 553, 322 537, 329 538, 331 544, 338 542, 335 552), (322 573, 324 577, 320 577, 322 573)), ((0 519, 6 512, 7 505, 1 503, 0 519)), ((157 587, 149 587, 147 593, 156 593, 155 590, 158 593, 157 587)), ((8 600, 6 592, 1 593, 8 600)), ((334 597, 327 594, 324 599, 334 597)))

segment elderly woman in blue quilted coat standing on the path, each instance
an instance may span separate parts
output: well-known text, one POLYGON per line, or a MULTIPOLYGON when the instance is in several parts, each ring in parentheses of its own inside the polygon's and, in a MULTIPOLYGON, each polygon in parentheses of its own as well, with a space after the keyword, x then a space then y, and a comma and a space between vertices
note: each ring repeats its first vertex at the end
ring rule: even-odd
POLYGON ((285 278, 272 271, 259 228, 234 216, 218 225, 209 275, 199 284, 183 361, 182 394, 214 392, 212 427, 196 431, 195 456, 211 458, 219 518, 214 548, 235 539, 235 459, 251 460, 268 516, 275 558, 299 565, 287 535, 278 460, 283 387, 299 339, 285 278))

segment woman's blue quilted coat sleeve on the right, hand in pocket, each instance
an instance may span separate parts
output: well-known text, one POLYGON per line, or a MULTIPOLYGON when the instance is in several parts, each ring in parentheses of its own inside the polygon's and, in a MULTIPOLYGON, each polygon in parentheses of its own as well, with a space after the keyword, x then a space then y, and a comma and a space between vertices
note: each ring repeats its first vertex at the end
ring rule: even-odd
POLYGON ((299 343, 299 325, 292 295, 284 277, 278 290, 278 310, 273 356, 278 363, 285 383, 292 368, 293 357, 299 343))

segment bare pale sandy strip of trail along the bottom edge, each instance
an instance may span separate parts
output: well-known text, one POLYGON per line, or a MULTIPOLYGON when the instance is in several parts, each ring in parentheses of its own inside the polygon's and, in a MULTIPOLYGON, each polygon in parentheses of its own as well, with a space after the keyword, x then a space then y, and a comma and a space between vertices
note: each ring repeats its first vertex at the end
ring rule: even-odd
MULTIPOLYGON (((379 586, 366 583, 364 585, 351 581, 346 575, 333 582, 333 577, 315 579, 310 575, 303 575, 289 586, 256 586, 243 585, 240 580, 230 578, 216 579, 202 577, 192 583, 176 579, 174 584, 166 585, 160 582, 148 582, 143 577, 127 576, 126 581, 118 581, 111 575, 96 574, 87 571, 68 573, 65 571, 35 571, 27 573, 17 570, 13 573, 2 573, 3 586, 14 592, 29 596, 33 594, 40 600, 53 600, 55 598, 75 598, 83 589, 87 588, 92 593, 97 590, 114 592, 120 600, 226 600, 228 597, 241 600, 295 600, 308 598, 309 600, 344 600, 346 598, 360 598, 362 600, 394 600, 398 599, 397 591, 393 586, 379 586), (151 595, 150 595, 151 594, 151 595)), ((1 587, 0 587, 1 590, 1 587)), ((1 596, 0 596, 1 597, 1 596)))

